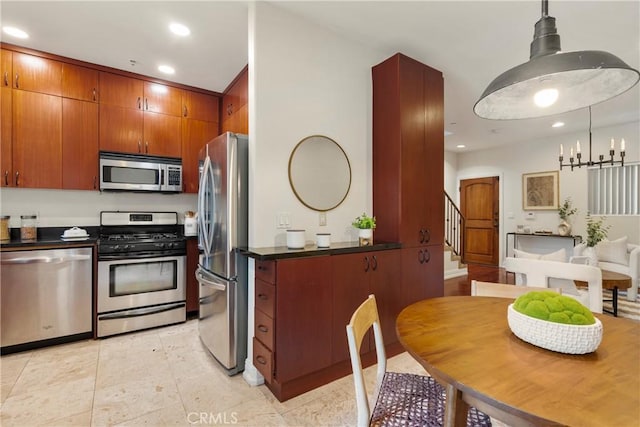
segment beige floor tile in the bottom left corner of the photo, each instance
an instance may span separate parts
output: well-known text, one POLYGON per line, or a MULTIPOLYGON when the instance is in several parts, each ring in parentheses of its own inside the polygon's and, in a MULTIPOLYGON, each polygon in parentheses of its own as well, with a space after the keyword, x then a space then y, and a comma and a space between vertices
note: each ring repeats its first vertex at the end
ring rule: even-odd
POLYGON ((54 420, 91 410, 95 378, 87 377, 10 395, 2 405, 2 426, 53 425, 54 420))

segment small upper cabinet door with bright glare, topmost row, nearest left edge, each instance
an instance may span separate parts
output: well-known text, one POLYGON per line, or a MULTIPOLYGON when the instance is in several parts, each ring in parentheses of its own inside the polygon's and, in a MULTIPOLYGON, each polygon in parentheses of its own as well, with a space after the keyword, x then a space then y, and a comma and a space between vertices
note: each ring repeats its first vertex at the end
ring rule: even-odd
POLYGON ((13 52, 13 88, 62 95, 62 62, 13 52))

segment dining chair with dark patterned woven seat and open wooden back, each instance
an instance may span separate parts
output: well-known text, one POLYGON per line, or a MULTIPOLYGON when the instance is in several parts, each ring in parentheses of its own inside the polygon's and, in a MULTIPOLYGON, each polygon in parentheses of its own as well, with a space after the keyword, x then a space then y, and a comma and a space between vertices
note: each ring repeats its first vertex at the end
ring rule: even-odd
MULTIPOLYGON (((382 339, 378 307, 374 295, 356 309, 347 325, 347 340, 358 410, 357 425, 365 426, 442 426, 446 392, 429 376, 387 372, 387 356, 382 339), (360 347, 367 331, 373 328, 376 347, 377 371, 373 413, 369 406, 360 347)), ((491 419, 470 407, 467 426, 490 426, 491 419)))

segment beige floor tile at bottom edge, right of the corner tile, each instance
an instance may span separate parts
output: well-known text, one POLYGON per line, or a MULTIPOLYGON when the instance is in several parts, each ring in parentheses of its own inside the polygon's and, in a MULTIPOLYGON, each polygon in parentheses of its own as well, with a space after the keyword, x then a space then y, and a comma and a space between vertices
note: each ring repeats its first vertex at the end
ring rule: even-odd
POLYGON ((178 405, 180 396, 170 374, 96 389, 91 424, 106 426, 178 405))

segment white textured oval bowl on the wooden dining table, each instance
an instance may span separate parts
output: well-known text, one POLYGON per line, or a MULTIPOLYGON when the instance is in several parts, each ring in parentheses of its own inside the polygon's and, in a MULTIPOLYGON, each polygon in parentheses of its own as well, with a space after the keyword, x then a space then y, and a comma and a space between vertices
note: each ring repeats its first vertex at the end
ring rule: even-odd
POLYGON ((591 353, 602 341, 602 322, 598 318, 593 325, 548 322, 522 314, 510 304, 507 320, 511 332, 521 340, 559 353, 591 353))

